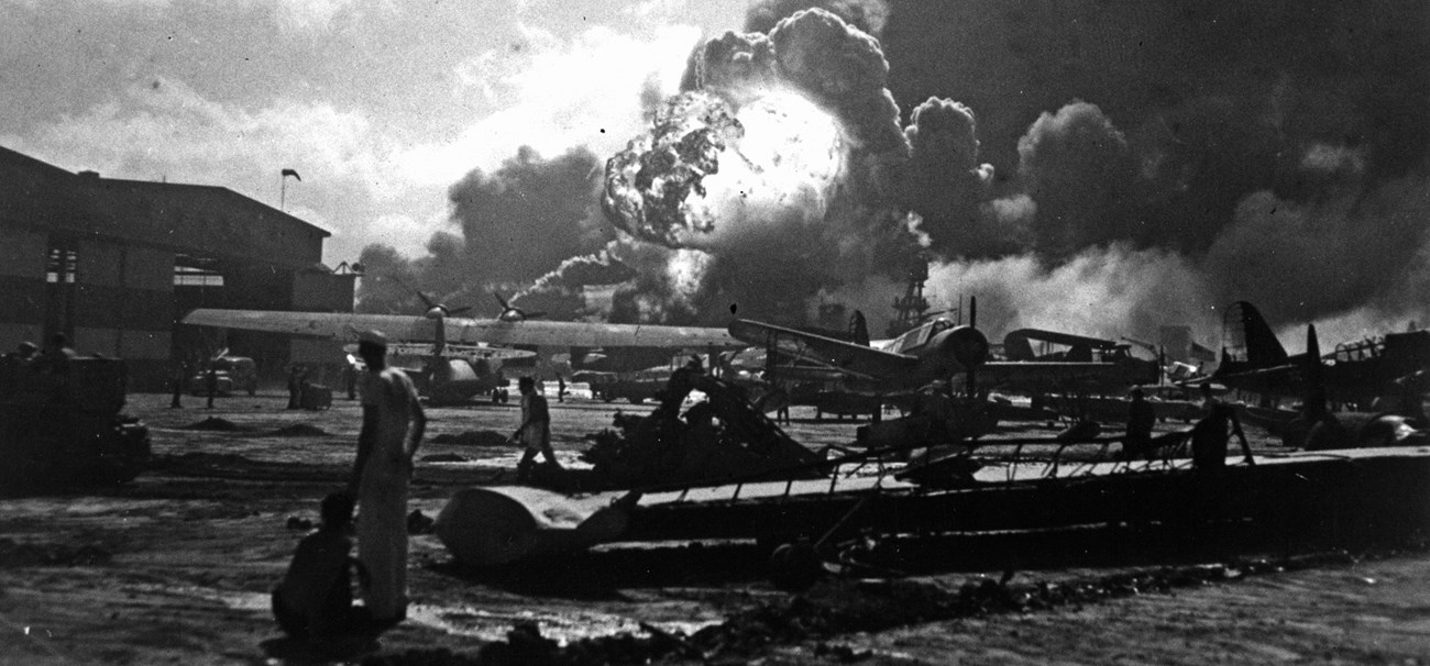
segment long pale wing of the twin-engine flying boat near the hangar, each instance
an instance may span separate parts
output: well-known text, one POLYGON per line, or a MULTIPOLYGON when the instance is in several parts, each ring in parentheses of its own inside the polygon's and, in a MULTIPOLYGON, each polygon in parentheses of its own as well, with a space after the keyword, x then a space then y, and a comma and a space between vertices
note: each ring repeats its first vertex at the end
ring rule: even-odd
MULTIPOLYGON (((292 336, 356 340, 358 332, 378 329, 389 340, 430 342, 433 320, 410 314, 303 313, 276 310, 216 310, 202 307, 186 324, 259 330, 292 336)), ((500 322, 446 317, 448 344, 535 344, 552 347, 736 349, 745 343, 725 329, 696 326, 608 324, 589 322, 500 322)))

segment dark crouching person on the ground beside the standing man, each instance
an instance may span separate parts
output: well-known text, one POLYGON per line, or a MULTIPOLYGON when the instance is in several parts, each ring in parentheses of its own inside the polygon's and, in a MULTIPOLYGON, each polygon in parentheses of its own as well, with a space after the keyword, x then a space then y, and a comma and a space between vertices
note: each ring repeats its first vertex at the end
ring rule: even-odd
POLYGON ((295 639, 352 635, 372 625, 369 609, 353 606, 352 572, 359 580, 366 572, 350 555, 352 494, 323 497, 322 515, 323 525, 297 542, 287 573, 273 589, 273 617, 295 639))

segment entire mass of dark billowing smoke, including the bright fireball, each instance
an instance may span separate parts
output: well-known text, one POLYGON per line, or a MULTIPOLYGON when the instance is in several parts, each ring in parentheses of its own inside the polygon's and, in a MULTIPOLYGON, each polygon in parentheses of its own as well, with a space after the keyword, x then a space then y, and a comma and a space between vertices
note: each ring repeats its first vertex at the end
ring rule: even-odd
POLYGON ((565 316, 618 280, 626 322, 839 300, 881 329, 924 252, 935 307, 977 294, 994 334, 1190 323, 1216 344, 1241 299, 1328 340, 1427 323, 1423 9, 761 1, 679 96, 642 96, 628 150, 473 173, 460 237, 365 260, 442 293, 536 280, 523 306, 565 316))

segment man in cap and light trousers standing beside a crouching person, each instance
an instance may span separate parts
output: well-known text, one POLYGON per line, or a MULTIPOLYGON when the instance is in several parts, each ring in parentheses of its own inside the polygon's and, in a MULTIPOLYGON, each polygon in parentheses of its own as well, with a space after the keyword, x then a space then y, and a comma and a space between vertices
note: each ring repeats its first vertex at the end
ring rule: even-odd
POLYGON ((388 367, 386 336, 376 330, 362 333, 358 354, 368 363, 368 372, 362 384, 358 460, 347 487, 358 494, 358 557, 372 577, 365 597, 368 609, 373 622, 395 625, 406 617, 408 479, 428 416, 412 380, 388 367))

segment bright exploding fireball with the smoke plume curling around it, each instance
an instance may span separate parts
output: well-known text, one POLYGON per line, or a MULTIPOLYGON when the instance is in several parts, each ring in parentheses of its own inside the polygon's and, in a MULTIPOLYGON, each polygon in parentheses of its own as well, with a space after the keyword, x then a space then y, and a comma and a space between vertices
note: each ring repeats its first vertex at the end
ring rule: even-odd
POLYGON ((815 9, 726 33, 692 69, 606 163, 606 216, 676 250, 645 253, 664 277, 636 312, 801 320, 821 290, 897 270, 915 247, 894 206, 908 143, 877 40, 815 9))

